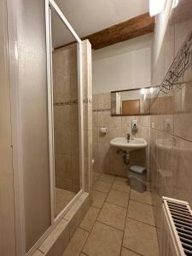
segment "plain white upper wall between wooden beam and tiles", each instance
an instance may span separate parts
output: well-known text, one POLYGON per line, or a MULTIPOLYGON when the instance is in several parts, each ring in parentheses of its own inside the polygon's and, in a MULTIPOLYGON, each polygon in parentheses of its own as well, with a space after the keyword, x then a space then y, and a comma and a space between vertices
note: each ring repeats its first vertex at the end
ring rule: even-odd
POLYGON ((153 34, 93 51, 93 94, 150 85, 153 34))

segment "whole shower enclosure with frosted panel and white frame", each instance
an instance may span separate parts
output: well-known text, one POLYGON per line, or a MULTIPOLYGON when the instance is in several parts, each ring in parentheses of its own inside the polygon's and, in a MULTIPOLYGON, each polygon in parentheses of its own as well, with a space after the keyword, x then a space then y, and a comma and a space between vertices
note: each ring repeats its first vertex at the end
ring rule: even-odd
POLYGON ((82 92, 82 41, 55 1, 7 3, 15 247, 21 256, 32 255, 89 192, 89 132, 83 131, 89 100, 82 92))

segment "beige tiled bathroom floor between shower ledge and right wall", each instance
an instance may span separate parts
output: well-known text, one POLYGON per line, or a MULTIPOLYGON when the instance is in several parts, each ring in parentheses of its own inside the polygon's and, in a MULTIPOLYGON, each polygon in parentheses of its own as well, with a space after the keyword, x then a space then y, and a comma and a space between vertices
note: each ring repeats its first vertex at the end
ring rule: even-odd
POLYGON ((159 256, 149 191, 94 173, 93 203, 62 256, 159 256))

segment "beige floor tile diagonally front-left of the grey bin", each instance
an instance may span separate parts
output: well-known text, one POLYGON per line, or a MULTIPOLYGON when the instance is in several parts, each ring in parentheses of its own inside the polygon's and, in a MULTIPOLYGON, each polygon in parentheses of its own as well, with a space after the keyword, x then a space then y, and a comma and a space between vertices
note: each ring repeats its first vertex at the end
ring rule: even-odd
POLYGON ((127 207, 129 201, 129 194, 123 191, 111 189, 109 191, 108 198, 106 201, 119 207, 127 207))

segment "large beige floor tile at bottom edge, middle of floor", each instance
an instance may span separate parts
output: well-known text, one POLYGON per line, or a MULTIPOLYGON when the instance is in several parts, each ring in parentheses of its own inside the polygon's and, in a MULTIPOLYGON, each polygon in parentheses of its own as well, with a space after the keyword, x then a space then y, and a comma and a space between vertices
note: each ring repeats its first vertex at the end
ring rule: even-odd
POLYGON ((119 256, 123 232, 96 222, 85 243, 83 253, 89 256, 119 256))

